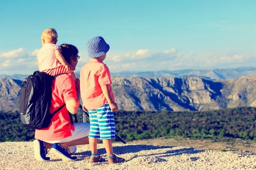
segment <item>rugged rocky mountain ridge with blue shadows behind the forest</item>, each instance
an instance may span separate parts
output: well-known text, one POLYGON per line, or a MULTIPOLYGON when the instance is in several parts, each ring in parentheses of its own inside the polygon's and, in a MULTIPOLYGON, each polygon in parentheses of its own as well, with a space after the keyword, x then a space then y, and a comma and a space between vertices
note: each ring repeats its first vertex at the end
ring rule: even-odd
MULTIPOLYGON (((240 74, 252 72, 253 69, 244 70, 240 74)), ((234 76, 234 70, 222 73, 225 78, 232 74, 234 76)), ((0 111, 18 110, 22 81, 0 78, 0 111)), ((206 111, 256 107, 256 74, 218 80, 195 76, 113 76, 112 83, 118 108, 125 111, 206 111)))

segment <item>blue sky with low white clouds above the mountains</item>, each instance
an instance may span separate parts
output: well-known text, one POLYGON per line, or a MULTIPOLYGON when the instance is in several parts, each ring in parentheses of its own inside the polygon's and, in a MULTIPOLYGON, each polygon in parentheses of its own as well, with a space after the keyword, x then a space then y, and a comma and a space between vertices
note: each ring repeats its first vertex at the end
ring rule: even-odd
POLYGON ((255 0, 1 0, 0 74, 32 74, 44 29, 73 44, 110 45, 111 72, 255 67, 255 0), (54 3, 55 2, 55 3, 54 3))

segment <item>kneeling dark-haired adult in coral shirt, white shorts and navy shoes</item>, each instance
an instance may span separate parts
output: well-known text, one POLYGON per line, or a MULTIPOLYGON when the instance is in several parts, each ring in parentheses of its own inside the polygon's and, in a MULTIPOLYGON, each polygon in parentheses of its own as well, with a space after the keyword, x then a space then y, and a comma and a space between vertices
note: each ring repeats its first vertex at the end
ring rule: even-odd
MULTIPOLYGON (((78 63, 78 49, 71 44, 62 44, 62 55, 73 68, 78 63)), ((36 129, 33 141, 34 157, 39 161, 49 161, 47 149, 58 155, 64 161, 73 161, 68 147, 89 144, 89 123, 71 123, 71 114, 76 114, 79 108, 80 81, 76 82, 68 74, 61 74, 52 81, 52 100, 50 113, 53 113, 64 103, 58 113, 54 114, 48 128, 36 129)), ((74 151, 73 151, 74 152, 74 151)))

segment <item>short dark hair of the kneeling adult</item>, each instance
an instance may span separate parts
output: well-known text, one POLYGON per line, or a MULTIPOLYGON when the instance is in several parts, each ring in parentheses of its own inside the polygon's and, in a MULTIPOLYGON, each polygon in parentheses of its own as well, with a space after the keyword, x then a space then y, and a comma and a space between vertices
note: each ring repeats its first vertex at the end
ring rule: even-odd
POLYGON ((76 55, 79 51, 74 45, 64 43, 60 46, 62 48, 62 55, 65 58, 66 62, 70 64, 71 58, 73 60, 76 60, 76 55))

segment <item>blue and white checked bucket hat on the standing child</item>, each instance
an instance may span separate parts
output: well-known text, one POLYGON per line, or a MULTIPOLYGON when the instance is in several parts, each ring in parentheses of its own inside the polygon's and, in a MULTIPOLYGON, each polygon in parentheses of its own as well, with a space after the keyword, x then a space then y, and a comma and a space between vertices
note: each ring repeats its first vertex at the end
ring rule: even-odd
POLYGON ((87 51, 89 58, 97 58, 108 52, 110 46, 101 36, 95 36, 87 41, 87 51))

